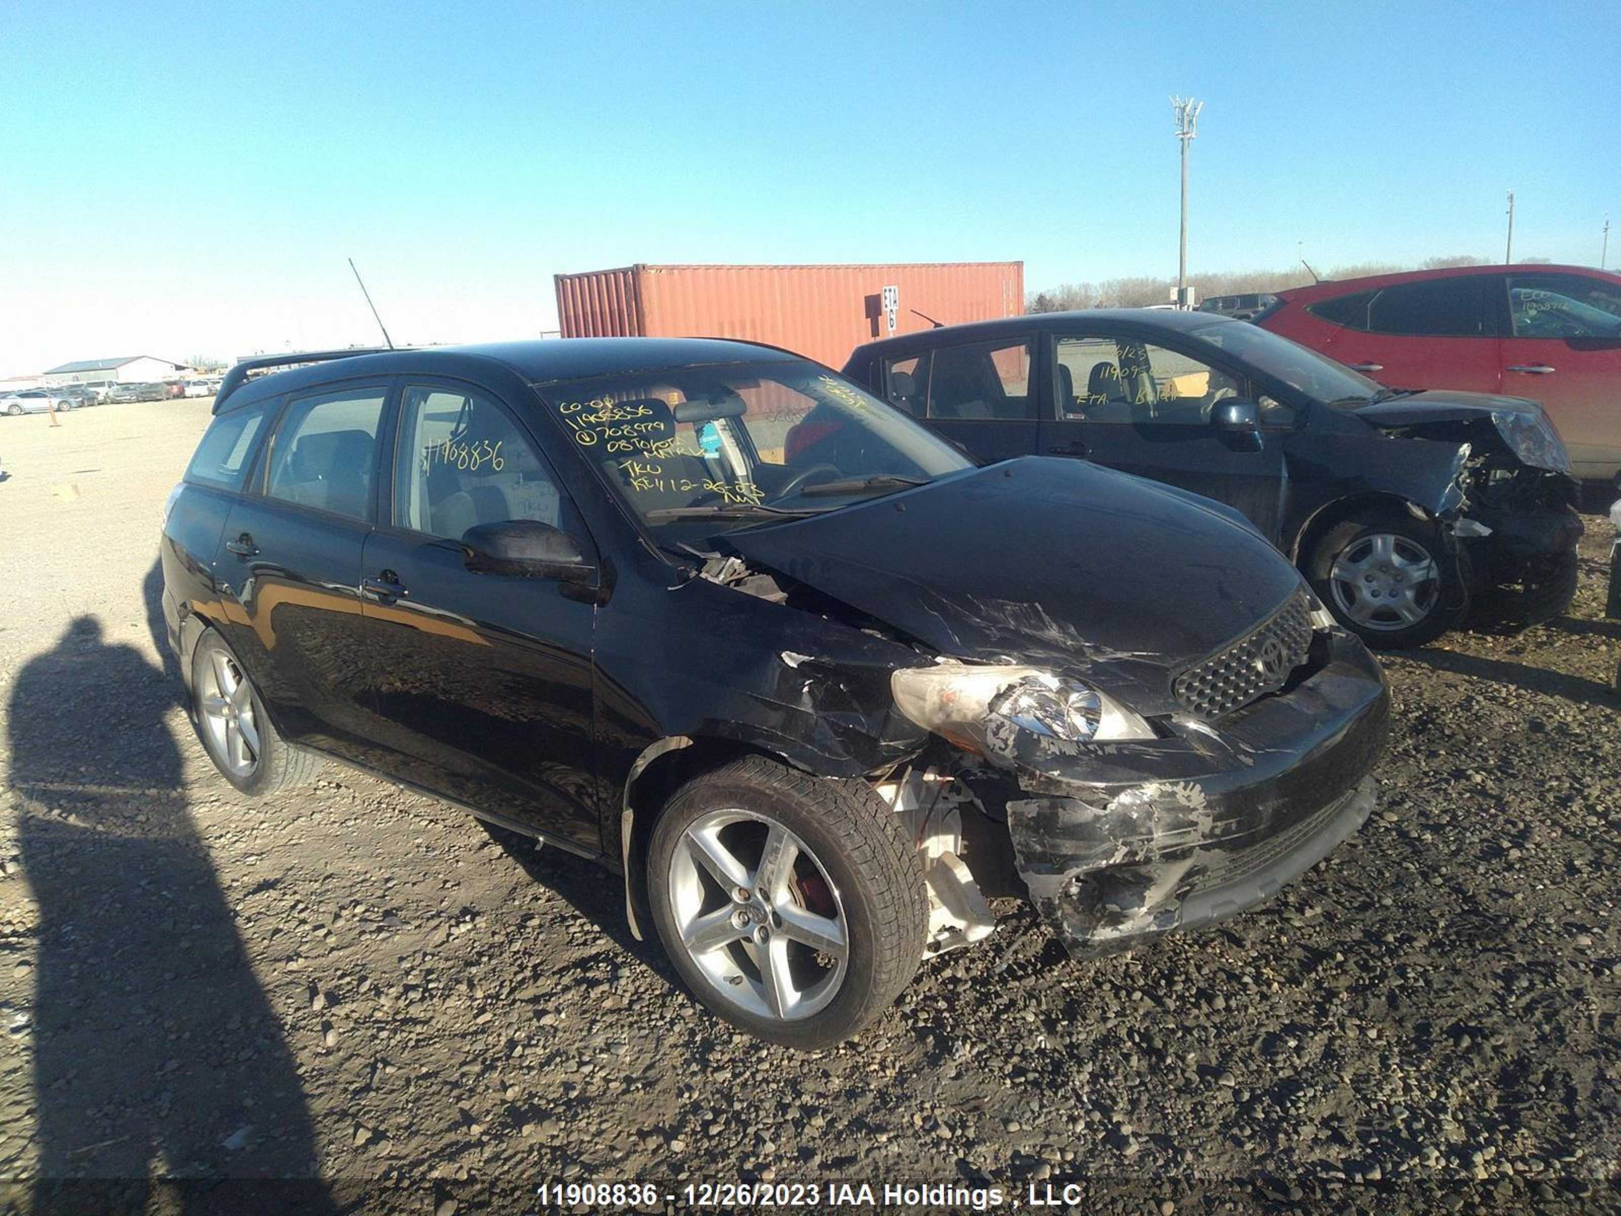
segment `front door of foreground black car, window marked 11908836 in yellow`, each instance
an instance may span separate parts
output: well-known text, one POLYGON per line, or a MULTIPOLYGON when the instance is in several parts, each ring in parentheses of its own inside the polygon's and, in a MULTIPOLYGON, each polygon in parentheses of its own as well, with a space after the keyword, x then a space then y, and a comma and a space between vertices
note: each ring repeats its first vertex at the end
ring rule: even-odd
POLYGON ((478 524, 540 520, 593 553, 540 447, 498 396, 404 381, 361 590, 379 741, 405 780, 601 850, 592 754, 593 593, 468 571, 478 524))

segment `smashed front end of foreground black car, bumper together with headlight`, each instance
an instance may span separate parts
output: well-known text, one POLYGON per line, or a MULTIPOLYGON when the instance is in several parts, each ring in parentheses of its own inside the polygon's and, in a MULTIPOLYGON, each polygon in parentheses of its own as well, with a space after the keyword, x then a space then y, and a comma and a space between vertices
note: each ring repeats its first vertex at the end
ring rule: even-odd
POLYGON ((1290 608, 1227 647, 1276 678, 1255 696, 1229 663, 1214 683, 1237 689, 1237 709, 1214 702, 1209 681, 1177 681, 1187 704, 1141 718, 1091 679, 1037 678, 1047 696, 1036 696, 1021 668, 896 673, 901 712, 977 754, 961 786, 1005 822, 1031 901, 1073 955, 1255 906, 1368 817, 1389 709, 1383 673, 1323 613, 1279 671, 1274 626, 1290 608))

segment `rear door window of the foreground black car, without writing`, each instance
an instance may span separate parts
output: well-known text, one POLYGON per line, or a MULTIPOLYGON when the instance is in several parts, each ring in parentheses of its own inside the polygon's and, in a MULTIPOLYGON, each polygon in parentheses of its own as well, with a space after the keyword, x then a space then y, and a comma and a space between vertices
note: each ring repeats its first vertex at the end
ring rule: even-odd
POLYGON ((276 428, 264 493, 284 503, 371 517, 383 387, 345 389, 293 400, 276 428))

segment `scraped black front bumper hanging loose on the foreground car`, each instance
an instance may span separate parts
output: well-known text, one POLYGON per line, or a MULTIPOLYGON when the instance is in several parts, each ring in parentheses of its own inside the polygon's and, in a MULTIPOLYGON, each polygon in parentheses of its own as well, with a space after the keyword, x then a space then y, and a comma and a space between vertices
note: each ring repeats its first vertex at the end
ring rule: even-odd
POLYGON ((1271 898, 1373 809, 1389 692, 1344 632, 1294 687, 1175 738, 1078 747, 1013 773, 1020 876, 1070 953, 1097 957, 1271 898))

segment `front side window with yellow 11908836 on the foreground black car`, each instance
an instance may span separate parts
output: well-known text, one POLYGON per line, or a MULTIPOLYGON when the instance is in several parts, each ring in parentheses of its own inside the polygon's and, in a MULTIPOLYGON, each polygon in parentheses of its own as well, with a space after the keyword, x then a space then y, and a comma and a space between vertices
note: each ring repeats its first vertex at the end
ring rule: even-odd
POLYGON ((504 409, 477 392, 408 387, 394 462, 394 525, 460 540, 480 524, 561 529, 551 470, 504 409))

